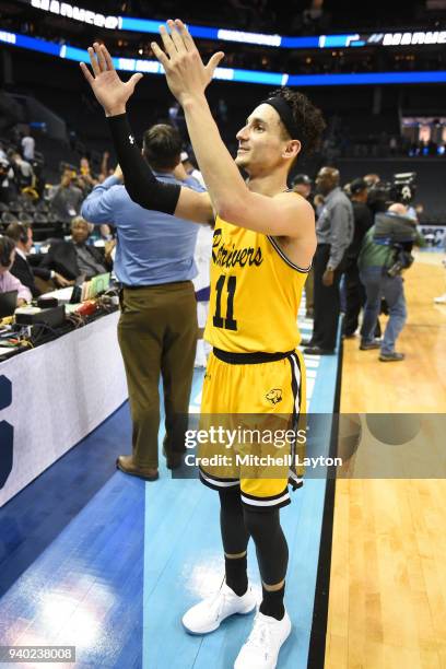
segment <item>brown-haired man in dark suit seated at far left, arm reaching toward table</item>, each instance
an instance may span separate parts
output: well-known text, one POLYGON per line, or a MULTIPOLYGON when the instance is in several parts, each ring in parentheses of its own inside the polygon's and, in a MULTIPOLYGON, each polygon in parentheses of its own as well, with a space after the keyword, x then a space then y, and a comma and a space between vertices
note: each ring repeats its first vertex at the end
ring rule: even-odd
POLYGON ((10 270, 11 274, 14 274, 23 285, 30 289, 33 297, 42 295, 42 291, 35 282, 36 277, 44 281, 52 280, 59 287, 70 285, 70 282, 55 270, 33 267, 30 263, 27 257, 33 246, 33 230, 27 223, 19 223, 17 221, 10 223, 7 228, 7 235, 15 243, 15 260, 10 270))

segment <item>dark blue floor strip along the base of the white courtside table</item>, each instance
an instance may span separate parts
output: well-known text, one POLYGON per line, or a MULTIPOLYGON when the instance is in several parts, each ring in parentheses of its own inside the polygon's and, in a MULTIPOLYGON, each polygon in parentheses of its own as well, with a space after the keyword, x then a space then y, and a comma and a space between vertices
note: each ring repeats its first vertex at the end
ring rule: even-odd
POLYGON ((126 403, 0 509, 0 598, 115 474, 130 430, 126 403))

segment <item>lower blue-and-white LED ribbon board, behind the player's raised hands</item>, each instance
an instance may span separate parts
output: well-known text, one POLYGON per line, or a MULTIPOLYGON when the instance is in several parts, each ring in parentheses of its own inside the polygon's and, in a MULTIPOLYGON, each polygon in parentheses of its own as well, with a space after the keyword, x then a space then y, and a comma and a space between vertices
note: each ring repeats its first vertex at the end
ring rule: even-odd
MULTIPOLYGON (((49 56, 56 56, 66 60, 74 60, 77 62, 89 61, 89 54, 85 49, 79 49, 67 44, 55 44, 54 42, 28 37, 27 35, 20 35, 19 33, 0 31, 0 42, 32 51, 40 51, 42 54, 48 54, 49 56)), ((157 60, 119 58, 114 56, 113 63, 117 70, 125 72, 164 74, 164 69, 157 60)), ((281 72, 262 72, 259 70, 216 68, 214 79, 271 86, 349 86, 367 84, 445 83, 446 71, 286 74, 281 72)))

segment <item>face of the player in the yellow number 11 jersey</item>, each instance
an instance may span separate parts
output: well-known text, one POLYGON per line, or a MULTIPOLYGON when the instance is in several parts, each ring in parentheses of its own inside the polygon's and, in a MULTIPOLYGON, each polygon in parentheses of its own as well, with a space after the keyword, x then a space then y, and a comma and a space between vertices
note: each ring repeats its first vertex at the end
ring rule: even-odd
POLYGON ((237 132, 235 163, 250 175, 269 174, 283 164, 289 142, 283 139, 279 114, 271 105, 259 105, 237 132))

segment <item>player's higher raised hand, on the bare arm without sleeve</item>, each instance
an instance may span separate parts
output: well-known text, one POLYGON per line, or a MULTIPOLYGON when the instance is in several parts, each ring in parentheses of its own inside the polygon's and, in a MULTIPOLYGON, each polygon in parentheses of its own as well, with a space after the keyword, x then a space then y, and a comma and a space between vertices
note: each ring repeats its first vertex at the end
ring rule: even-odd
POLYGON ((160 27, 160 34, 166 52, 154 42, 151 44, 151 47, 165 70, 168 87, 179 104, 184 105, 188 99, 200 97, 204 94, 215 68, 224 57, 224 54, 223 51, 218 51, 206 66, 183 21, 179 19, 172 21, 169 19, 167 25, 171 31, 169 33, 164 25, 160 27))

